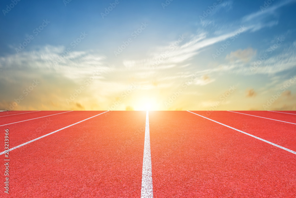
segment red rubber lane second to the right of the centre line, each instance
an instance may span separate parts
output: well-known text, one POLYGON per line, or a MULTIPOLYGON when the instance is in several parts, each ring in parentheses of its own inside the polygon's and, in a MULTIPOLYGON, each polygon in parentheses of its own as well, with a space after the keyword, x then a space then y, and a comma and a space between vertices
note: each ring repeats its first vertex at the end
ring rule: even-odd
MULTIPOLYGON (((206 115, 206 112, 196 112, 200 115, 206 115)), ((254 114, 252 111, 246 114, 254 114)), ((266 112, 266 116, 269 112, 266 112)), ((279 113, 281 117, 281 113, 279 113)), ((284 114, 285 115, 285 114, 284 114)), ((289 115, 289 114, 287 114, 289 115)), ((205 116, 212 120, 239 129, 243 132, 255 135, 264 140, 270 141, 277 145, 296 151, 296 125, 290 123, 258 118, 250 115, 233 113, 228 111, 215 111, 210 116, 205 116)), ((205 119, 205 118, 204 118, 205 119)), ((279 120, 279 119, 278 119, 279 120)), ((239 132, 238 132, 239 133, 239 132)))

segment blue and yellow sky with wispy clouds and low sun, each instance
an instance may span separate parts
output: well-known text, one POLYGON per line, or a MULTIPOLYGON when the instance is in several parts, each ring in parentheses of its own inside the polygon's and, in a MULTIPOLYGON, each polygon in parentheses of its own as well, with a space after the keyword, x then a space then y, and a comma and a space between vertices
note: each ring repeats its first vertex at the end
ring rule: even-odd
POLYGON ((296 0, 0 8, 0 110, 296 110, 296 0))

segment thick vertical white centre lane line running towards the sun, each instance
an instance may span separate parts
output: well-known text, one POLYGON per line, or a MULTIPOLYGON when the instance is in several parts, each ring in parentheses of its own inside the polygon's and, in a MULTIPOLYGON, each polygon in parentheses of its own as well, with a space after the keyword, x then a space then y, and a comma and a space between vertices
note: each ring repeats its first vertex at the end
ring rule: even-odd
POLYGON ((146 113, 141 198, 153 198, 149 116, 146 113))

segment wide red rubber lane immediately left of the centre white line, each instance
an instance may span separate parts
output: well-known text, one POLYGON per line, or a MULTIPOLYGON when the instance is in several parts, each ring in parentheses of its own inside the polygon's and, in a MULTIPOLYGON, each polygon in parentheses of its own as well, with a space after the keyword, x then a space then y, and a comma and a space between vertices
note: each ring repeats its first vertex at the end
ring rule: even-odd
POLYGON ((9 152, 9 196, 140 197, 145 116, 102 114, 9 152))

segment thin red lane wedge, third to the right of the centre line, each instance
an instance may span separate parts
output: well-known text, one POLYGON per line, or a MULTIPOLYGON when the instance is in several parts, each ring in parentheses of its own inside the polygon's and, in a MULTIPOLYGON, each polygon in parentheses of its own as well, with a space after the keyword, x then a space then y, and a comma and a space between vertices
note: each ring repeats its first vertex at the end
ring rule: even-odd
MULTIPOLYGON (((277 112, 271 112, 271 111, 234 111, 234 112, 249 114, 249 116, 256 115, 263 118, 270 118, 274 120, 280 120, 280 121, 291 122, 296 124, 296 114, 292 115, 287 113, 277 113, 277 112)), ((260 118, 260 119, 263 119, 263 118, 260 118)))

